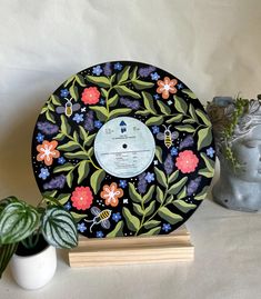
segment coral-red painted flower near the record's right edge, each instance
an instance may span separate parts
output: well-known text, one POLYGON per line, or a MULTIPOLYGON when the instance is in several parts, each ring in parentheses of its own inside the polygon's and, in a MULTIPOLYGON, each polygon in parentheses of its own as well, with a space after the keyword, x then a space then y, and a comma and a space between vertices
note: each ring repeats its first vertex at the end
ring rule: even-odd
POLYGON ((175 166, 182 173, 193 172, 198 163, 199 159, 192 150, 184 150, 180 152, 175 160, 175 166))

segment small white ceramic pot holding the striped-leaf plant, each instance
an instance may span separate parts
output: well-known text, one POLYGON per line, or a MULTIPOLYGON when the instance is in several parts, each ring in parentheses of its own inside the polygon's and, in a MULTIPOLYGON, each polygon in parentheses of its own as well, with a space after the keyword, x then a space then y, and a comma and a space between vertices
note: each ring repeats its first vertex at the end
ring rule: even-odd
POLYGON ((39 253, 28 257, 13 255, 10 261, 13 279, 23 289, 34 290, 46 286, 57 269, 57 251, 48 246, 39 253))

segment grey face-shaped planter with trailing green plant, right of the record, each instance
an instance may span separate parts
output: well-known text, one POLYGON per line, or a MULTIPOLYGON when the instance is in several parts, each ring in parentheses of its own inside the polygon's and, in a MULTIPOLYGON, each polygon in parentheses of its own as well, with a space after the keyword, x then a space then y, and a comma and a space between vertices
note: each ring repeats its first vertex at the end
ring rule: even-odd
POLYGON ((208 104, 213 126, 220 179, 213 200, 233 210, 261 208, 261 103, 215 97, 208 104))

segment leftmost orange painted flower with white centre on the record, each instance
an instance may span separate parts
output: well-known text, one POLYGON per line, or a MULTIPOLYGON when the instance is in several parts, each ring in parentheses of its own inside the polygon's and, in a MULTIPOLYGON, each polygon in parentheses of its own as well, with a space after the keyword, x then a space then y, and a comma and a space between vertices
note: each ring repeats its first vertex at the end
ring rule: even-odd
POLYGON ((44 165, 51 166, 53 158, 59 158, 60 152, 56 149, 58 142, 52 140, 51 142, 44 140, 42 144, 37 146, 37 150, 39 151, 37 156, 38 161, 44 161, 44 165))

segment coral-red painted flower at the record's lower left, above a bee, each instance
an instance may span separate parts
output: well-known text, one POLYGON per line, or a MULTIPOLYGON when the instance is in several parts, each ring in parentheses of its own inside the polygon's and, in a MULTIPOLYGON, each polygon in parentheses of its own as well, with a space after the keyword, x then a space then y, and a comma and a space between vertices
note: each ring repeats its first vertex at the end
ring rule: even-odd
POLYGON ((93 196, 89 187, 77 187, 72 192, 72 206, 78 210, 87 210, 91 207, 93 196))

